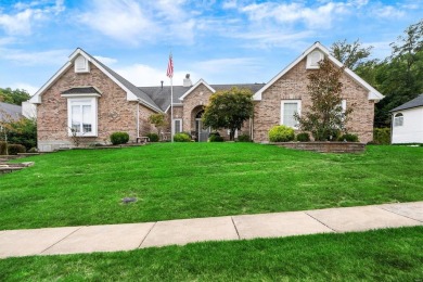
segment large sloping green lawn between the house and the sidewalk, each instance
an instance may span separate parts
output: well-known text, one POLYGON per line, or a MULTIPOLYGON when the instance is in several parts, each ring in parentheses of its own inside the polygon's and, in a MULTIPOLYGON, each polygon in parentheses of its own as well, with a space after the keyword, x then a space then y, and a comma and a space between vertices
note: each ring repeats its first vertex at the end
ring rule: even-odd
POLYGON ((0 229, 103 225, 423 200, 423 148, 318 154, 161 143, 28 157, 0 176, 0 229), (138 202, 121 204, 123 197, 138 202))

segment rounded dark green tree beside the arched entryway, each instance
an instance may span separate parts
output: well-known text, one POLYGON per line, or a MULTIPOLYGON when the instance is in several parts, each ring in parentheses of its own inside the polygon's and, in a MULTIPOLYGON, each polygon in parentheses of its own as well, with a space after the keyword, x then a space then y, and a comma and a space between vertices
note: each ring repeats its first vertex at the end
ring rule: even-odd
POLYGON ((236 87, 214 93, 204 110, 203 124, 213 129, 229 129, 230 140, 234 139, 236 129, 253 116, 253 93, 248 89, 236 87))

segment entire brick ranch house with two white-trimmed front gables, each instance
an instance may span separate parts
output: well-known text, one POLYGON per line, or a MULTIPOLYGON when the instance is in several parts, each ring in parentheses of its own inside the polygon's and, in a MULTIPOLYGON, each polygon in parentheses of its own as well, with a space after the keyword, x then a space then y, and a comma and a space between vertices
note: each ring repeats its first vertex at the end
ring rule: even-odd
MULTIPOLYGON (((244 124, 242 133, 255 142, 266 142, 274 125, 297 129, 294 113, 307 112, 311 103, 307 75, 324 56, 342 67, 325 47, 316 42, 267 84, 208 85, 200 79, 192 85, 188 76, 182 86, 174 86, 175 132, 189 131, 205 141, 209 129, 202 127, 204 106, 214 92, 233 86, 254 93, 254 117, 244 124)), ((349 132, 357 133, 361 142, 372 141, 374 103, 384 97, 350 69, 345 69, 342 82, 343 107, 356 104, 347 124, 349 132)), ((81 137, 82 145, 89 145, 107 143, 115 131, 128 132, 131 141, 154 132, 148 121, 154 113, 166 113, 170 120, 170 87, 136 87, 79 48, 29 102, 37 105, 40 151, 72 146, 70 128, 81 137)), ((227 130, 221 133, 228 136, 227 130)))

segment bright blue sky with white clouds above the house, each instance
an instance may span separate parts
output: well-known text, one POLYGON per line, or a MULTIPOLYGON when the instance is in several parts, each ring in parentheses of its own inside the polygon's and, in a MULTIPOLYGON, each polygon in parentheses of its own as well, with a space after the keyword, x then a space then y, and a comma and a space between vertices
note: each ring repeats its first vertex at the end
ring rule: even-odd
POLYGON ((423 0, 0 0, 0 88, 34 94, 76 48, 136 86, 267 82, 308 47, 359 39, 372 57, 423 0))

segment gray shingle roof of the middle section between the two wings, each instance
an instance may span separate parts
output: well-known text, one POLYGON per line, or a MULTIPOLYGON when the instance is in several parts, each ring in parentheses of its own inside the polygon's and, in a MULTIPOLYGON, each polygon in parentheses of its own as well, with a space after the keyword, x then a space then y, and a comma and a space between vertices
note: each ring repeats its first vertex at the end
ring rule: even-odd
MULTIPOLYGON (((216 91, 230 89, 232 87, 247 88, 253 94, 257 92, 265 84, 243 84, 243 85, 210 85, 216 91)), ((139 87, 142 92, 145 92, 161 108, 166 111, 170 105, 170 86, 157 87, 139 87)), ((191 87, 174 86, 174 104, 181 104, 179 100, 191 87)))

